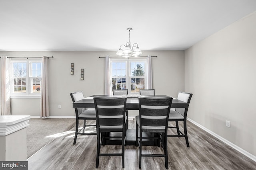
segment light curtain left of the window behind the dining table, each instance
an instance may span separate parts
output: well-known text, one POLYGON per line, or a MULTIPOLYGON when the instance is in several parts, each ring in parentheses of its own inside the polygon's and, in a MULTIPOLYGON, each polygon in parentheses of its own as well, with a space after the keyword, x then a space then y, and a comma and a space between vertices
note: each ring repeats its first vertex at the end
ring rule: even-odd
POLYGON ((111 88, 111 70, 110 70, 110 57, 106 56, 105 61, 105 94, 110 95, 112 88, 111 88))

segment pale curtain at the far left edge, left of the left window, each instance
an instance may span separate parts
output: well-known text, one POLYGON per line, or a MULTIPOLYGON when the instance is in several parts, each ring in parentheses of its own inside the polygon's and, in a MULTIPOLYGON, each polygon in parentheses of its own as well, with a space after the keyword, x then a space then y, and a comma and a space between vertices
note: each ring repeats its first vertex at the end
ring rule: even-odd
POLYGON ((11 115, 10 107, 10 60, 7 56, 1 56, 1 114, 11 115))

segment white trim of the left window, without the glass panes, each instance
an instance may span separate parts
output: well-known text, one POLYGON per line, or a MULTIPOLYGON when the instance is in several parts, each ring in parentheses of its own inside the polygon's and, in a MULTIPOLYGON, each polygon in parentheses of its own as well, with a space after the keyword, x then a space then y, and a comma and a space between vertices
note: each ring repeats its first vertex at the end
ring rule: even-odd
POLYGON ((11 99, 22 99, 22 98, 41 98, 41 93, 31 93, 30 83, 27 85, 26 83, 26 93, 14 93, 13 92, 13 63, 27 63, 27 75, 26 82, 30 81, 30 75, 32 74, 32 66, 31 63, 42 63, 42 60, 11 60, 10 61, 10 98, 11 99))

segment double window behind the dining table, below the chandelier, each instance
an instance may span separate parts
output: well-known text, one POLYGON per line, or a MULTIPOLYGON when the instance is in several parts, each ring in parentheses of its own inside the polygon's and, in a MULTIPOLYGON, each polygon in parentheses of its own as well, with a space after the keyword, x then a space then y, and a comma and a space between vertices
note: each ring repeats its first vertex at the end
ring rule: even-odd
POLYGON ((111 59, 112 90, 128 89, 129 94, 138 94, 145 89, 146 62, 146 59, 111 59))

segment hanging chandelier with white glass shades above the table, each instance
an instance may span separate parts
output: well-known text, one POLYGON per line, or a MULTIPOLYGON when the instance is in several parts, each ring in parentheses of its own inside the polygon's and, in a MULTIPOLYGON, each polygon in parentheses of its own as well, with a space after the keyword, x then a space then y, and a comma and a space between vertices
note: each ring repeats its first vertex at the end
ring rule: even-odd
POLYGON ((129 42, 126 43, 126 45, 120 45, 119 50, 116 52, 116 55, 122 56, 122 57, 139 57, 142 52, 140 51, 138 44, 134 43, 131 46, 130 42, 130 31, 132 31, 132 28, 127 28, 127 31, 129 31, 129 42), (123 47, 122 47, 123 46, 123 47))

